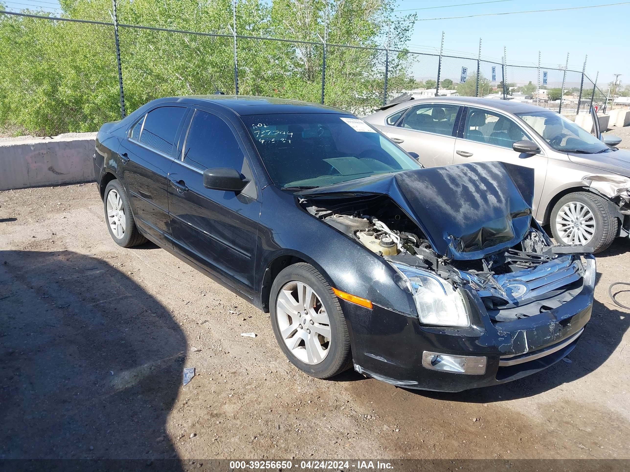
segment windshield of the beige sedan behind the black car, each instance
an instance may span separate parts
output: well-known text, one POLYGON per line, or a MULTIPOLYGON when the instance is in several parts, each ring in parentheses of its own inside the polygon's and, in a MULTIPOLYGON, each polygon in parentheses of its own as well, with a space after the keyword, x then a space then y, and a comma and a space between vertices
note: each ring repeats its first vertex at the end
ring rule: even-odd
POLYGON ((592 134, 555 111, 535 111, 516 115, 532 126, 553 149, 580 154, 597 154, 610 150, 592 134))

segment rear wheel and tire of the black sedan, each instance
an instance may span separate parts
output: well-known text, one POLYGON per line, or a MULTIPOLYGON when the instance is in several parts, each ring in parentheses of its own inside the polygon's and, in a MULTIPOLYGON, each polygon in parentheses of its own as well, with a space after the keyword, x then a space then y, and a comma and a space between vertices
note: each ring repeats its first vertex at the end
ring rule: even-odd
POLYGON ((122 184, 113 180, 105 187, 103 196, 105 222, 112 239, 122 247, 132 247, 147 242, 135 226, 129 199, 122 184))

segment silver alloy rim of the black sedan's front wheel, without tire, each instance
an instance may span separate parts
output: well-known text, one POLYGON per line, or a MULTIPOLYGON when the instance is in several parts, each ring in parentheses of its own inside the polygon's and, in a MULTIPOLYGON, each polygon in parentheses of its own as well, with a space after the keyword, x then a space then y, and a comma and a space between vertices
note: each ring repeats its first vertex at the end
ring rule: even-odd
POLYGON ((286 283, 278 294, 276 317, 282 340, 297 359, 319 364, 328 356, 328 313, 311 287, 299 281, 286 283))

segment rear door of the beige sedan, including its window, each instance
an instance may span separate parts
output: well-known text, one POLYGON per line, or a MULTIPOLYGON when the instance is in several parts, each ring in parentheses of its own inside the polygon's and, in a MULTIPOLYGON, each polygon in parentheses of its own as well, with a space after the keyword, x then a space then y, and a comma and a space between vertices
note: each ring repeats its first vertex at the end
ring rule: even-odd
MULTIPOLYGON (((400 116, 395 125, 382 129, 404 150, 418 153, 424 166, 447 166, 453 163, 455 124, 461 108, 455 104, 418 104, 400 116)), ((390 123, 396 116, 388 118, 386 122, 390 123)))

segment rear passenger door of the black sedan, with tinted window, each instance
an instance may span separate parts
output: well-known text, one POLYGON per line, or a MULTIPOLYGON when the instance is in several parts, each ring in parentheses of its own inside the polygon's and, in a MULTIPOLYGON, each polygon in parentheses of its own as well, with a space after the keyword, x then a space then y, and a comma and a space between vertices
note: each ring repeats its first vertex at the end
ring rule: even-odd
POLYGON ((160 105, 131 126, 118 150, 118 169, 136 224, 152 239, 170 245, 166 176, 186 107, 160 105))

